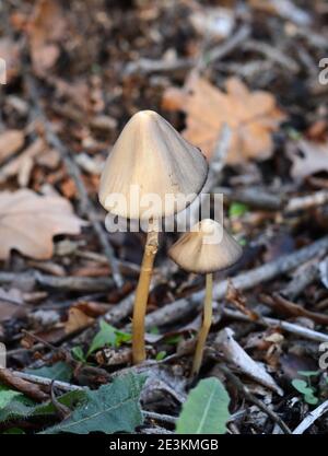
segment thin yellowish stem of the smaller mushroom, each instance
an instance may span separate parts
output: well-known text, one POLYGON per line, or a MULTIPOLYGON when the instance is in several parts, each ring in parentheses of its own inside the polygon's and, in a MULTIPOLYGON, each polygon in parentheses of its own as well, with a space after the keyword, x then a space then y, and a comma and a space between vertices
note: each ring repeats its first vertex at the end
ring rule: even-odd
POLYGON ((207 337, 212 324, 212 294, 213 294, 213 274, 212 272, 207 273, 206 278, 206 297, 203 303, 203 319, 202 326, 199 331, 196 353, 194 358, 192 371, 191 375, 197 375, 201 362, 202 362, 202 353, 206 346, 207 337))

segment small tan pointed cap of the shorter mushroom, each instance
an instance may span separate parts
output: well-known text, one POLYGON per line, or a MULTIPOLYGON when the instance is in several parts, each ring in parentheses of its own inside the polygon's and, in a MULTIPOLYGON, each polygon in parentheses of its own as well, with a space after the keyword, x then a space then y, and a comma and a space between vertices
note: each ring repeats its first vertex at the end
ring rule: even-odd
POLYGON ((213 220, 192 226, 169 248, 168 256, 189 272, 208 273, 229 268, 243 254, 237 242, 213 220))

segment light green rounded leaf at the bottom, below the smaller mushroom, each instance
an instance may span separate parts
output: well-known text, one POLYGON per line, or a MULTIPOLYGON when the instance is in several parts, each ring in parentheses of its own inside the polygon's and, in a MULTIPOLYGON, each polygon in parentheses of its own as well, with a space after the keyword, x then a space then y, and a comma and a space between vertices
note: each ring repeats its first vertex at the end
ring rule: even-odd
POLYGON ((214 377, 199 382, 191 389, 176 424, 177 434, 224 434, 229 420, 230 397, 214 377))

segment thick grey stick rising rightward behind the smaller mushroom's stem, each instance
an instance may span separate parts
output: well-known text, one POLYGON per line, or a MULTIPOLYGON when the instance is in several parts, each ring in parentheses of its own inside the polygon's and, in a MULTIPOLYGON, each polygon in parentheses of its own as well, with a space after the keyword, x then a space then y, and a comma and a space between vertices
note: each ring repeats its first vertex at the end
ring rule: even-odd
MULTIPOLYGON (((230 282, 238 290, 249 290, 259 283, 272 280, 278 276, 289 272, 301 264, 308 261, 317 255, 323 255, 327 250, 328 236, 325 236, 293 254, 283 255, 277 260, 267 262, 250 271, 243 272, 233 279, 218 283, 213 289, 213 299, 221 300, 224 297, 230 282)), ((198 308, 203 299, 204 290, 200 290, 188 297, 166 304, 157 311, 147 315, 145 327, 151 328, 153 326, 163 326, 178 321, 184 318, 185 315, 198 308)))

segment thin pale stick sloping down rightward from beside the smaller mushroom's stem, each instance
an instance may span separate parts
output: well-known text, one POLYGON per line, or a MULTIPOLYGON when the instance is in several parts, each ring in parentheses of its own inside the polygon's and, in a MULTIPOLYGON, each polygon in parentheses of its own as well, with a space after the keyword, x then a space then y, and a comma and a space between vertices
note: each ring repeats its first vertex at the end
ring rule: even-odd
POLYGON ((314 340, 315 342, 328 342, 328 335, 325 335, 324 332, 314 331, 313 329, 307 329, 304 326, 282 321, 277 318, 261 317, 255 321, 248 315, 242 314, 237 311, 231 311, 230 308, 224 308, 223 315, 230 318, 239 319, 242 321, 251 321, 256 325, 263 325, 270 328, 278 327, 286 332, 303 337, 304 339, 314 340))

